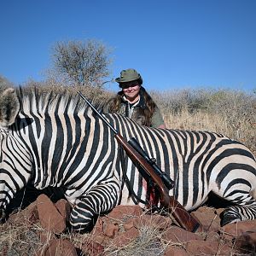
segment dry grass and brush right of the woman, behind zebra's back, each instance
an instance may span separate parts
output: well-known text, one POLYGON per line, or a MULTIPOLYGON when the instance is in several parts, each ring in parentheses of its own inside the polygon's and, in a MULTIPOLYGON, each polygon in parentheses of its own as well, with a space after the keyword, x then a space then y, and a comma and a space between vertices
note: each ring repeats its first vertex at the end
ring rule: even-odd
POLYGON ((236 90, 152 92, 170 129, 213 131, 256 153, 256 94, 236 90))

